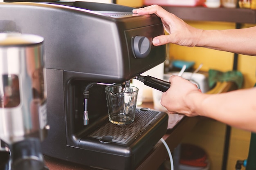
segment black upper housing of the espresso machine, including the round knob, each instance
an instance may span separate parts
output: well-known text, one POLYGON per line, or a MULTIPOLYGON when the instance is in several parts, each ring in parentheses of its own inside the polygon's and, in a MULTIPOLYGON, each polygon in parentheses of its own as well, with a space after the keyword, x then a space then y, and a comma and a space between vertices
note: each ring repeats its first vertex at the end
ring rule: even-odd
POLYGON ((1 2, 0 32, 42 36, 46 68, 94 82, 124 82, 166 59, 165 46, 151 43, 164 34, 160 18, 132 9, 95 2, 1 2))

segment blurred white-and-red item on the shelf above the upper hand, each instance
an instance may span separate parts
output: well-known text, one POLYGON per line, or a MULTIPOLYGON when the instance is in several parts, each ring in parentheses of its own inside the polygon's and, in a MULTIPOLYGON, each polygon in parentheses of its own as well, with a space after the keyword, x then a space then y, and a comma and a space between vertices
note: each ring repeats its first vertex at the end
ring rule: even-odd
POLYGON ((205 0, 144 0, 144 5, 158 4, 160 6, 203 6, 205 0))

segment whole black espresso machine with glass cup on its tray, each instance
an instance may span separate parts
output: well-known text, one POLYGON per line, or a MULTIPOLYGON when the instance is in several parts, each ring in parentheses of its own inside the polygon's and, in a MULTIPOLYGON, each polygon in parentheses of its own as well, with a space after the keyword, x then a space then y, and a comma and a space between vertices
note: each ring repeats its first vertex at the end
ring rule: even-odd
POLYGON ((94 2, 2 2, 0 32, 45 39, 47 115, 44 155, 86 166, 132 170, 165 134, 168 115, 137 108, 135 121, 108 121, 105 87, 133 79, 166 59, 152 39, 164 29, 156 15, 94 2), (84 88, 89 91, 84 125, 84 88))

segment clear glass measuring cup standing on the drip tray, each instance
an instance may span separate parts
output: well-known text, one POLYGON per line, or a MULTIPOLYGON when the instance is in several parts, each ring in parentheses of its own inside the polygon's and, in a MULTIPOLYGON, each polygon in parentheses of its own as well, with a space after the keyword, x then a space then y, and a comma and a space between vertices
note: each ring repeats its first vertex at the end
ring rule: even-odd
POLYGON ((121 91, 121 85, 105 88, 111 123, 125 125, 134 121, 138 91, 135 86, 126 87, 124 92, 121 91))

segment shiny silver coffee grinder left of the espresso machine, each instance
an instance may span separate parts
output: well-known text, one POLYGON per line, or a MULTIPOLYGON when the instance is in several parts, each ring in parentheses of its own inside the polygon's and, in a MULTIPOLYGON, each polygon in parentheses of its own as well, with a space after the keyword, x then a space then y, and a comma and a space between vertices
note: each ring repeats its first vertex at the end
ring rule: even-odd
POLYGON ((40 144, 47 136, 43 55, 42 37, 0 33, 0 148, 2 154, 4 148, 9 152, 5 160, 12 170, 45 168, 40 144))

